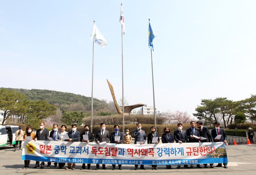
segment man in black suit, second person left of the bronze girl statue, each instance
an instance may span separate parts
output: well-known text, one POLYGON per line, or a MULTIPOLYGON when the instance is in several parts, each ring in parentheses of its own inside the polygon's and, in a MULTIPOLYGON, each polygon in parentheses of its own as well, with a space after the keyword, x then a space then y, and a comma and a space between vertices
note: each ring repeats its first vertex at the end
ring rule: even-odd
MULTIPOLYGON (((100 144, 100 142, 109 142, 109 132, 106 130, 106 124, 100 123, 100 130, 97 131, 95 141, 96 143, 100 144)), ((96 169, 98 170, 100 168, 100 164, 96 164, 96 169)), ((107 170, 106 164, 102 164, 102 169, 107 170)))

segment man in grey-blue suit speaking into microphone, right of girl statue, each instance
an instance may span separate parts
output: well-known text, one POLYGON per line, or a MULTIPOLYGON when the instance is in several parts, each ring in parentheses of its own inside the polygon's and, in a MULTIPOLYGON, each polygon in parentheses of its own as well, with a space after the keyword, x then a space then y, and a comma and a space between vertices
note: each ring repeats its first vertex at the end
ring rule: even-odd
MULTIPOLYGON (((140 145, 144 144, 146 142, 146 133, 145 131, 141 130, 141 123, 136 124, 137 129, 133 131, 133 138, 134 138, 134 144, 140 143, 140 145)), ((138 170, 138 165, 134 165, 135 169, 138 170)), ((146 170, 144 168, 144 165, 140 165, 140 169, 146 170)))

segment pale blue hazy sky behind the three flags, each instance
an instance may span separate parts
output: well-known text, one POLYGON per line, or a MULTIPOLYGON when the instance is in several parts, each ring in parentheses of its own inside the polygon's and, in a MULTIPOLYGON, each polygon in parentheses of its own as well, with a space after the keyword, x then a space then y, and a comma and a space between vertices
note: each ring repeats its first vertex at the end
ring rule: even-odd
POLYGON ((91 97, 93 20, 108 42, 94 45, 93 97, 153 106, 148 19, 156 33, 156 108, 188 111, 201 99, 256 94, 256 1, 0 1, 0 87, 91 97))

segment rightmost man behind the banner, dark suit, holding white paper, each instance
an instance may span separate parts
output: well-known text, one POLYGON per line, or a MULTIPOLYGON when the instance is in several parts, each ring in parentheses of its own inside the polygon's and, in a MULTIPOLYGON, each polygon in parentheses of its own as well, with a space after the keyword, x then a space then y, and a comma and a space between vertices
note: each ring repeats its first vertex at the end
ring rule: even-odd
MULTIPOLYGON (((220 123, 219 122, 215 122, 214 123, 215 129, 212 130, 212 137, 214 138, 214 142, 224 142, 227 143, 227 136, 225 134, 225 131, 220 128, 220 123), (215 139, 215 137, 217 135, 221 135, 220 139, 215 139)), ((213 166, 213 163, 210 164, 211 166, 213 166)), ((227 163, 223 163, 224 168, 228 168, 227 167, 227 163)), ((221 167, 221 163, 218 163, 218 165, 216 167, 221 167)))

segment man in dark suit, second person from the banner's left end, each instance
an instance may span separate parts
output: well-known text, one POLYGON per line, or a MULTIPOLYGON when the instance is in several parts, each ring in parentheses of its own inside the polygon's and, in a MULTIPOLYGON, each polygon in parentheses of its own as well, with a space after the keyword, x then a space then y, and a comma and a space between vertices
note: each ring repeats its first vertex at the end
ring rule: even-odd
MULTIPOLYGON (((40 123, 40 129, 36 130, 36 136, 35 136, 35 141, 36 140, 48 140, 49 136, 49 130, 44 128, 44 122, 40 123)), ((39 167, 39 161, 36 161, 36 166, 33 168, 38 168, 39 167)), ((44 162, 41 163, 41 168, 44 168, 44 162)))

